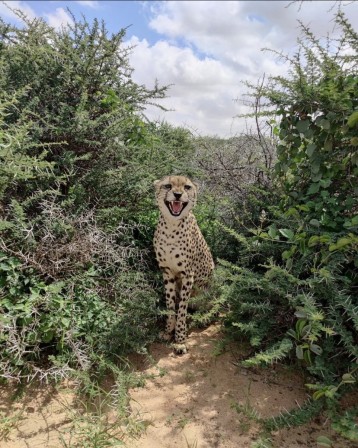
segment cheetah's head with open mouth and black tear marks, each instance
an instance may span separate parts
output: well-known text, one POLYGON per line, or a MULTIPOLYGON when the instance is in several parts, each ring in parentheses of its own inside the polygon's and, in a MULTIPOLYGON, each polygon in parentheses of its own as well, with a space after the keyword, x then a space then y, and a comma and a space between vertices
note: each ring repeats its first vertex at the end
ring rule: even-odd
POLYGON ((185 176, 156 180, 155 197, 165 219, 183 219, 196 204, 197 185, 185 176))

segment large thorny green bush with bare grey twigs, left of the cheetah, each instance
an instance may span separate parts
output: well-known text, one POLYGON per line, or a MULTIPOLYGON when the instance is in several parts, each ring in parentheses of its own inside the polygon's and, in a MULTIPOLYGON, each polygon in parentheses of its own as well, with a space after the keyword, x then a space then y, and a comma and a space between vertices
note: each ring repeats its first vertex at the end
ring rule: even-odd
POLYGON ((124 30, 21 17, 0 22, 1 376, 93 373, 155 337, 152 184, 194 149, 143 115, 166 88, 133 82, 124 30))

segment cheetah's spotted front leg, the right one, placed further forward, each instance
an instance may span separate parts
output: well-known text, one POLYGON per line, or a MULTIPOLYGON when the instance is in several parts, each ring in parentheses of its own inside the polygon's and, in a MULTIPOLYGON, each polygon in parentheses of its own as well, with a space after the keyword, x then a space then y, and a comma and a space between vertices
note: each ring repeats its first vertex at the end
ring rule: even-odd
POLYGON ((188 310, 188 302, 190 293, 194 284, 194 276, 188 275, 182 278, 181 288, 179 291, 179 306, 175 325, 175 351, 178 354, 185 354, 187 348, 186 340, 186 316, 188 310))

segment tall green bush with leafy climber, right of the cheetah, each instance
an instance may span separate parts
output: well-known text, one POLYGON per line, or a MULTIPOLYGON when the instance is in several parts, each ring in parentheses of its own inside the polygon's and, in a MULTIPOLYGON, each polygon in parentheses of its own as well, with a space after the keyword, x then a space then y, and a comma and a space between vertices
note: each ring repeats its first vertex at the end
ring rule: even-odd
POLYGON ((335 22, 326 45, 301 25, 289 75, 250 86, 278 138, 278 201, 256 222, 238 215, 239 257, 221 263, 226 326, 252 346, 244 364, 289 357, 315 378, 313 398, 333 402, 356 383, 358 357, 358 35, 342 12, 335 22))

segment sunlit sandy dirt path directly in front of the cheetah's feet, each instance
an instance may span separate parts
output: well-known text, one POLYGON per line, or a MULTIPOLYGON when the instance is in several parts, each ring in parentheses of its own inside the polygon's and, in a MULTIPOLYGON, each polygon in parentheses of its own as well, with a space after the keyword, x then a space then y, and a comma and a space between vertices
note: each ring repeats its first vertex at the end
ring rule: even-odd
MULTIPOLYGON (((239 353, 215 355, 219 341, 219 327, 211 326, 191 333, 187 355, 175 356, 169 347, 155 344, 150 351, 154 365, 137 360, 150 379, 144 388, 131 390, 131 406, 148 428, 130 448, 251 447, 261 431, 252 413, 276 416, 308 398, 298 374, 283 367, 258 373, 239 368, 239 353)), ((271 440, 275 448, 316 447, 319 435, 334 439, 318 421, 276 431, 271 440)))

